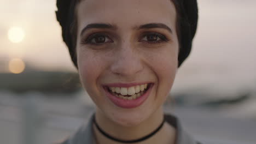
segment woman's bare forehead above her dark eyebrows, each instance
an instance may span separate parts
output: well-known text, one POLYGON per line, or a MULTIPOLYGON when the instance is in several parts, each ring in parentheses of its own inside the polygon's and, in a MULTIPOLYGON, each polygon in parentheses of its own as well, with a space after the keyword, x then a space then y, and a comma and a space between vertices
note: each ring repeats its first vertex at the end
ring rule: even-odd
POLYGON ((79 29, 100 22, 122 28, 158 22, 175 30, 176 10, 171 0, 83 0, 77 14, 79 29))

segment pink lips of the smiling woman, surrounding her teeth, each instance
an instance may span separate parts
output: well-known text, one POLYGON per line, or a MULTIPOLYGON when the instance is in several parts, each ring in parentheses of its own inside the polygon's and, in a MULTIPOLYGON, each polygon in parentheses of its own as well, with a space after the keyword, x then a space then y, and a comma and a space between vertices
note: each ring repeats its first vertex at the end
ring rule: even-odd
MULTIPOLYGON (((146 84, 146 83, 144 83, 144 84, 146 84)), ((132 87, 132 86, 136 86, 136 85, 143 85, 143 83, 142 84, 113 83, 113 84, 110 84, 107 86, 103 86, 103 88, 104 88, 104 92, 106 93, 107 97, 109 98, 110 101, 112 101, 113 104, 115 104, 119 107, 122 107, 124 109, 132 109, 132 108, 142 105, 144 103, 144 101, 146 101, 146 99, 149 97, 149 94, 154 86, 154 83, 150 83, 150 85, 149 85, 150 87, 148 88, 148 91, 146 93, 141 95, 141 97, 139 97, 137 99, 133 99, 133 100, 125 100, 125 99, 118 98, 115 95, 113 95, 112 93, 109 93, 107 87, 132 87)))

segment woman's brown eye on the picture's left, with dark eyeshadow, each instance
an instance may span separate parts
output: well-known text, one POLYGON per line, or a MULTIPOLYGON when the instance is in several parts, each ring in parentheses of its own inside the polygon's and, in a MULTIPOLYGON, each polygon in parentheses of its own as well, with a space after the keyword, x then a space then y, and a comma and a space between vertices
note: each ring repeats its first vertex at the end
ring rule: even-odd
POLYGON ((110 39, 109 36, 104 33, 91 34, 88 36, 88 38, 82 40, 82 44, 102 45, 105 43, 113 43, 113 40, 110 39))

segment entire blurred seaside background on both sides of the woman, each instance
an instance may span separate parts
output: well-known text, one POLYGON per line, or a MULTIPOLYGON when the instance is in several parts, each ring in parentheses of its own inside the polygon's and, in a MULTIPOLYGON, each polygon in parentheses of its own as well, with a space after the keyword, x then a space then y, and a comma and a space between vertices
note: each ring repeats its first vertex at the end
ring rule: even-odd
MULTIPOLYGON (((198 0, 190 57, 165 104, 205 143, 256 141, 256 1, 198 0)), ((52 0, 0 0, 0 141, 53 143, 90 117, 90 98, 52 0)))

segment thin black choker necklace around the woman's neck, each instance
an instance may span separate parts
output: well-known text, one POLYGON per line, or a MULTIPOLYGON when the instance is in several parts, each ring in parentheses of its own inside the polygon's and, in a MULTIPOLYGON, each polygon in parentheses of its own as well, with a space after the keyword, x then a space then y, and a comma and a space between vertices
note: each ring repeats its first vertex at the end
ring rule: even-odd
POLYGON ((113 140, 113 141, 117 141, 117 142, 121 142, 121 143, 135 143, 135 142, 141 142, 141 141, 147 140, 147 139, 149 139, 149 137, 152 137, 155 133, 157 133, 157 132, 162 128, 162 125, 164 125, 164 123, 165 123, 165 118, 163 118, 162 123, 159 125, 158 128, 156 128, 154 131, 152 131, 152 133, 150 133, 150 134, 148 134, 148 135, 146 135, 146 136, 143 136, 143 137, 141 137, 141 138, 139 138, 139 139, 137 139, 137 140, 127 140, 127 141, 126 141, 126 140, 117 139, 117 138, 115 138, 115 137, 113 137, 113 136, 110 136, 110 135, 107 134, 106 132, 104 132, 104 131, 100 128, 100 126, 98 126, 98 124, 96 123, 95 115, 94 115, 94 117, 93 117, 93 122, 94 122, 94 124, 96 125, 96 128, 98 129, 98 131, 100 131, 100 133, 101 133, 102 135, 106 136, 108 139, 113 140))

